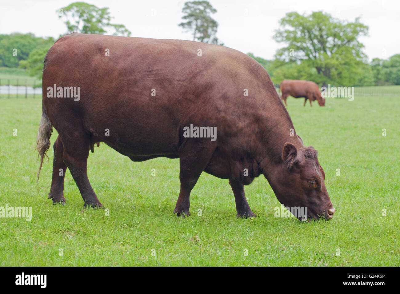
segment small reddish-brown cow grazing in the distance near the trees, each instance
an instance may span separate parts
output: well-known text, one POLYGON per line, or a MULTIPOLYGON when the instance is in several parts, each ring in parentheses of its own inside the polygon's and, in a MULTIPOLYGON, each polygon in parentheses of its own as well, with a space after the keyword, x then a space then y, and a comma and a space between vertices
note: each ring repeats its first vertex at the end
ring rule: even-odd
POLYGON ((286 99, 290 95, 294 98, 305 98, 303 106, 306 106, 307 99, 310 101, 310 106, 312 106, 311 101, 315 100, 318 101, 320 106, 325 106, 325 98, 322 97, 320 88, 312 81, 283 80, 280 83, 280 90, 285 105, 288 105, 286 104, 286 99))

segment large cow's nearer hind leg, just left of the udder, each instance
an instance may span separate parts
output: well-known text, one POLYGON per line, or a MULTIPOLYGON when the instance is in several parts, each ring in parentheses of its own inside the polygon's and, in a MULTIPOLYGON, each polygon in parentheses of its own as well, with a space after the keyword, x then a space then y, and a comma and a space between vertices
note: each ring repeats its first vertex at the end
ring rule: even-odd
POLYGON ((74 130, 72 133, 60 135, 64 143, 63 160, 68 166, 76 186, 78 186, 85 203, 84 206, 103 207, 90 185, 87 174, 87 160, 90 149, 89 135, 79 129, 74 130), (66 136, 65 140, 64 136, 66 136))

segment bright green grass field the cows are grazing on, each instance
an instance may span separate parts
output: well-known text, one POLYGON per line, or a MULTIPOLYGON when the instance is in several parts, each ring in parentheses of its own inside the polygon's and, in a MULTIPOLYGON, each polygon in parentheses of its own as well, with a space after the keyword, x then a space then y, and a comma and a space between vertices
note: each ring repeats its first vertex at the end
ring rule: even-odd
POLYGON ((238 219, 228 180, 205 173, 191 194, 192 216, 177 218, 179 161, 132 162, 105 144, 90 154, 88 175, 109 216, 83 209, 69 172, 67 204, 53 206, 52 148, 36 182, 41 99, 0 101, 0 206, 32 206, 33 215, 0 218, 0 266, 400 265, 398 97, 327 98, 326 107, 312 108, 288 98, 296 132, 319 152, 336 207, 331 221, 310 223, 275 218, 280 204, 263 176, 245 188, 258 217, 238 219))

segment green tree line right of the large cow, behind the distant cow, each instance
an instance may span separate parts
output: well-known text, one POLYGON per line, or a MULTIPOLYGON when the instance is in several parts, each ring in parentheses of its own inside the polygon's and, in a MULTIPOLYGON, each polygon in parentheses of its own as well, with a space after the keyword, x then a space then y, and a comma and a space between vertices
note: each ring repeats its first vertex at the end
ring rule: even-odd
POLYGON ((400 54, 388 59, 368 57, 362 51, 360 36, 368 26, 357 18, 346 22, 324 12, 300 15, 287 13, 273 38, 286 46, 273 60, 249 53, 271 75, 272 81, 312 80, 320 85, 380 86, 400 84, 400 54))

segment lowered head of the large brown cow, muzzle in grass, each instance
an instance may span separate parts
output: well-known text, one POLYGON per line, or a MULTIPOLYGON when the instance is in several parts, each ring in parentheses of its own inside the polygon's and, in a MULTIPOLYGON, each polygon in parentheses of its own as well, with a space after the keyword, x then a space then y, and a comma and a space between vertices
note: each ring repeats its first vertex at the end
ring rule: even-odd
MULTIPOLYGON (((308 220, 328 220, 335 213, 325 187, 325 173, 313 147, 296 148, 286 143, 282 162, 271 173, 269 182, 276 198, 285 207, 307 208, 308 220)), ((295 215, 302 219, 303 216, 295 215)))

